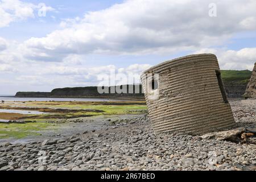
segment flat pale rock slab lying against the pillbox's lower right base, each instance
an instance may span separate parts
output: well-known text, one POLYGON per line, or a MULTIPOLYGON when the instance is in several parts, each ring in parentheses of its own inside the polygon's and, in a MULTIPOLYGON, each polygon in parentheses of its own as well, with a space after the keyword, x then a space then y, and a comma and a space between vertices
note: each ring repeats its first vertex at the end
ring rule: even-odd
POLYGON ((202 139, 216 139, 216 140, 236 140, 238 135, 245 133, 244 127, 238 127, 237 129, 213 132, 200 136, 202 139))

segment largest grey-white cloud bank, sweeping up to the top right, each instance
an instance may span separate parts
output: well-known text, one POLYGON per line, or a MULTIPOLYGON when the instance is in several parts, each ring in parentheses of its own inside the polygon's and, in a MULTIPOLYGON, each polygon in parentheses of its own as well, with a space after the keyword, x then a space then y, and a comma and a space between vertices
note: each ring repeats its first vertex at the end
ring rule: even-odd
POLYGON ((23 47, 28 59, 61 61, 69 54, 148 54, 218 46, 234 33, 255 30, 255 1, 129 0, 63 20, 63 30, 31 38, 23 47), (31 56, 32 55, 32 56, 31 56))

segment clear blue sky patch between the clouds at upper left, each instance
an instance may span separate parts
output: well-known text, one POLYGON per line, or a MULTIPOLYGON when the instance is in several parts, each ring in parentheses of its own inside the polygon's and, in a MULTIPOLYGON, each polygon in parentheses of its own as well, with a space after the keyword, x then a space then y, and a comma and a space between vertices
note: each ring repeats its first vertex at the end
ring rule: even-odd
POLYGON ((61 19, 75 18, 84 16, 88 11, 97 11, 110 7, 114 3, 122 1, 26 1, 39 5, 45 3, 47 6, 54 7, 56 12, 47 13, 46 17, 36 17, 26 21, 11 23, 9 27, 3 27, 0 36, 8 39, 26 40, 31 36, 45 36, 59 27, 61 19), (55 19, 52 17, 55 16, 55 19))

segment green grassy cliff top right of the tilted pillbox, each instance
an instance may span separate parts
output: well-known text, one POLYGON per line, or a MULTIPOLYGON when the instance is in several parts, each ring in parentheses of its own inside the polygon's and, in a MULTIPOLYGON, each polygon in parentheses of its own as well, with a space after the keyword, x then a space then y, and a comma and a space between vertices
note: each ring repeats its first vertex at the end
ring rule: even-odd
POLYGON ((240 85, 240 84, 247 84, 251 77, 251 71, 243 70, 222 70, 221 77, 224 84, 231 84, 231 85, 240 85))

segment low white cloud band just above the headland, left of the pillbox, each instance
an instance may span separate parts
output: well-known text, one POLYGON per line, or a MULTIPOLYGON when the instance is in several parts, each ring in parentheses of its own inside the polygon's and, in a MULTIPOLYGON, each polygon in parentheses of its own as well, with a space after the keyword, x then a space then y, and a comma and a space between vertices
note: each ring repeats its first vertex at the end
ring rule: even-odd
MULTIPOLYGON (((41 85, 53 85, 53 87, 96 86, 101 82, 102 78, 111 78, 114 84, 127 84, 127 82, 119 82, 117 80, 118 75, 121 73, 126 77, 133 77, 134 83, 138 84, 141 73, 149 67, 151 65, 133 64, 127 68, 118 68, 115 65, 86 68, 49 63, 45 67, 40 68, 40 71, 36 70, 38 68, 36 65, 31 65, 31 68, 16 80, 19 82, 26 82, 27 80, 28 84, 38 81, 41 85)), ((129 84, 132 83, 130 80, 129 84)))

